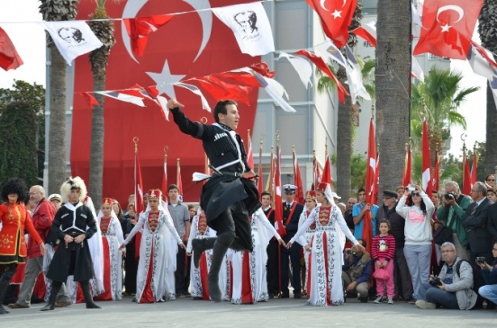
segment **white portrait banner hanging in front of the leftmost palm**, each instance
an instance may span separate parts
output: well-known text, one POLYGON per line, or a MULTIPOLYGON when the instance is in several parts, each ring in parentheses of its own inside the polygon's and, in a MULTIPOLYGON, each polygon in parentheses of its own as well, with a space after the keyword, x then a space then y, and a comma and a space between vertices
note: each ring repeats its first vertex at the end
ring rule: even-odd
POLYGON ((102 47, 85 21, 40 22, 70 66, 74 58, 102 47))

